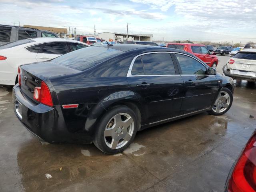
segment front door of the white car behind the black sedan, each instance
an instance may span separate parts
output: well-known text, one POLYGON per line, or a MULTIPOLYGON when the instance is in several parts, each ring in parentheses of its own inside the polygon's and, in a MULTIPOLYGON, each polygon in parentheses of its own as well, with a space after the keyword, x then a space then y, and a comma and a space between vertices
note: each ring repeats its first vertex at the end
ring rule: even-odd
POLYGON ((66 53, 68 53, 66 42, 44 43, 36 55, 36 60, 38 62, 47 61, 66 53))

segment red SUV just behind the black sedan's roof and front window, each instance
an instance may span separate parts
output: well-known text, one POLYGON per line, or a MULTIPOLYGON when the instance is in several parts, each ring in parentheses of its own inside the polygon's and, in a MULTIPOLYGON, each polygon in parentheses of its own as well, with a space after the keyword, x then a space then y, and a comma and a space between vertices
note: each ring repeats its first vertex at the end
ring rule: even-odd
POLYGON ((216 68, 219 62, 218 57, 213 55, 212 52, 210 52, 203 44, 168 43, 166 44, 166 47, 190 52, 212 68, 216 68))

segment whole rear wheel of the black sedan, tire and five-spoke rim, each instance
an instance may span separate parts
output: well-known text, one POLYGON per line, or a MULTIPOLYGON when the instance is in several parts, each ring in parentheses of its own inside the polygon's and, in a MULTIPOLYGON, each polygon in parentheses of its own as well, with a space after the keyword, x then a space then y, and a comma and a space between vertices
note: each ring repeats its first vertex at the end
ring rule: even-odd
POLYGON ((100 120, 94 144, 104 153, 117 154, 130 145, 137 130, 137 118, 133 110, 118 106, 108 111, 100 120))

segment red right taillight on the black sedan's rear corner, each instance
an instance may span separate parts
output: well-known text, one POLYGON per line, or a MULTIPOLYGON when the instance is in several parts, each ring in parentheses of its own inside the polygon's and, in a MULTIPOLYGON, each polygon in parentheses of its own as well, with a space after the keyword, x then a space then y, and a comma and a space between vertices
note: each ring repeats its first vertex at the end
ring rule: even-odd
POLYGON ((46 85, 46 83, 43 81, 41 83, 41 87, 35 87, 33 98, 34 100, 37 100, 42 104, 45 104, 51 107, 53 106, 51 92, 48 86, 46 85))

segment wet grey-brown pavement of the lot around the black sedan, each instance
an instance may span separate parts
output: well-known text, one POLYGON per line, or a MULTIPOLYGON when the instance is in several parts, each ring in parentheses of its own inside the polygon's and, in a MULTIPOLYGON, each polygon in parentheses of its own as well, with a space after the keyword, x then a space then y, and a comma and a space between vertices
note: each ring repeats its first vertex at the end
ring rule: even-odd
MULTIPOLYGON (((229 57, 218 57, 222 73, 229 57)), ((256 84, 236 81, 226 114, 202 113, 143 130, 127 150, 106 155, 93 144, 41 143, 14 115, 12 88, 0 86, 0 191, 223 191, 256 128, 250 114, 256 117, 256 84)))

